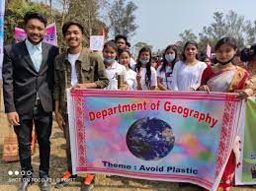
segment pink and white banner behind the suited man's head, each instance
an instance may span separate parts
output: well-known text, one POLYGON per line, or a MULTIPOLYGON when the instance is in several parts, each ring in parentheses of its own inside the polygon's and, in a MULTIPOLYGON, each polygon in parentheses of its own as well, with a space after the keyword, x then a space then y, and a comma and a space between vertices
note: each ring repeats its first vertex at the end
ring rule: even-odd
MULTIPOLYGON (((46 35, 44 36, 43 41, 52 45, 57 46, 57 32, 55 24, 50 24, 46 27, 46 35)), ((15 28, 14 38, 18 41, 23 41, 27 38, 27 34, 23 29, 15 28)))

